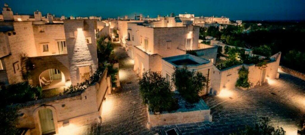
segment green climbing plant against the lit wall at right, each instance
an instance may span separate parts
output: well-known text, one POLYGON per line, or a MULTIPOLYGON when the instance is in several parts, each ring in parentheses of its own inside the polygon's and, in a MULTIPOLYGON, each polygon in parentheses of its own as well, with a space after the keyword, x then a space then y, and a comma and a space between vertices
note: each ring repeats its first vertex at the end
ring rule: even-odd
POLYGON ((248 80, 248 74, 249 74, 249 71, 244 66, 242 66, 242 68, 240 68, 238 71, 238 79, 236 81, 235 86, 248 89, 250 87, 250 82, 248 80))

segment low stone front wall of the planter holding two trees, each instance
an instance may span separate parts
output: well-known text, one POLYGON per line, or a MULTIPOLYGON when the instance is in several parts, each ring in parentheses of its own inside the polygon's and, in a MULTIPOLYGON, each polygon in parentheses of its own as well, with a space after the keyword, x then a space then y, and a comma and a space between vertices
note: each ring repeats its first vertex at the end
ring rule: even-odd
POLYGON ((151 126, 195 123, 201 121, 212 121, 210 109, 165 114, 149 114, 149 123, 151 126))

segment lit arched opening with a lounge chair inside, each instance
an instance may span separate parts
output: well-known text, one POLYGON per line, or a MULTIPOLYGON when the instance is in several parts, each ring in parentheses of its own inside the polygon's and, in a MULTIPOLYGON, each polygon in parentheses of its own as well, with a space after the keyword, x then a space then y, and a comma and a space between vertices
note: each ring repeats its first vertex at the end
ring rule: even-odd
POLYGON ((66 86, 66 78, 58 69, 48 69, 39 75, 39 83, 43 90, 66 86))

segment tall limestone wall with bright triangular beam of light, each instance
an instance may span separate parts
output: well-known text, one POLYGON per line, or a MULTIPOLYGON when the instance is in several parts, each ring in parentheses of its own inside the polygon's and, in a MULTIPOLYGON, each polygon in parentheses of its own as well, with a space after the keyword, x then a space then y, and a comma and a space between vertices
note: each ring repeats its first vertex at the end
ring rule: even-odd
POLYGON ((90 66, 91 73, 98 68, 96 52, 96 20, 64 20, 67 52, 69 59, 69 71, 71 83, 79 82, 78 67, 90 66), (87 43, 87 39, 91 43, 87 43))

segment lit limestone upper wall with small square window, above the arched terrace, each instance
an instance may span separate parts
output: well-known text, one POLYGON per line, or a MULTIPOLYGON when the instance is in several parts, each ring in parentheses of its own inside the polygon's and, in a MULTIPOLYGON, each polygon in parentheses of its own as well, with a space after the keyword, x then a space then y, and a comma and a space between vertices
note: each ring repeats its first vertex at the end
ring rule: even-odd
POLYGON ((58 41, 65 41, 63 24, 33 25, 35 45, 38 56, 59 54, 58 41), (48 51, 43 52, 43 44, 48 44, 48 51))

